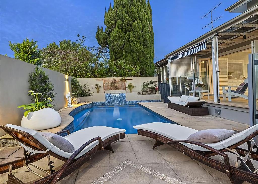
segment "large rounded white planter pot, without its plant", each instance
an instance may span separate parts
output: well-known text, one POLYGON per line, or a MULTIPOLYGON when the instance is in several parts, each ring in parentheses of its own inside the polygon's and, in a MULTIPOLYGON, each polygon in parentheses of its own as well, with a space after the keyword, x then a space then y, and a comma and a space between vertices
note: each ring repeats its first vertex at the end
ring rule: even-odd
POLYGON ((52 108, 43 108, 29 112, 27 117, 23 115, 21 126, 33 130, 45 130, 57 127, 61 124, 60 114, 52 108))

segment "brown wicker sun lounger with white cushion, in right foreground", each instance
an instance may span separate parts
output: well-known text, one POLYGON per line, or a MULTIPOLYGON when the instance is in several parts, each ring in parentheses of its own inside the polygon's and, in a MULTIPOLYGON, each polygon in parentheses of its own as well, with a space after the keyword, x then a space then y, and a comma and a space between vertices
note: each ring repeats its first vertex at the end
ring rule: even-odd
POLYGON ((258 183, 258 174, 250 158, 258 160, 257 145, 253 138, 258 135, 258 124, 250 127, 240 133, 222 140, 218 143, 202 144, 187 140, 188 136, 197 132, 195 129, 171 124, 171 123, 147 123, 134 126, 138 135, 150 137, 156 140, 153 149, 157 146, 167 144, 183 154, 199 161, 213 169, 226 173, 231 183, 258 183), (238 146, 247 143, 248 149, 238 146), (241 165, 236 168, 229 164, 229 157, 225 152, 231 152, 237 155, 237 161, 241 165), (211 156, 220 155, 224 158, 224 163, 211 158, 211 156), (246 156, 247 155, 247 156, 246 156), (241 156, 245 157, 242 158, 241 156))

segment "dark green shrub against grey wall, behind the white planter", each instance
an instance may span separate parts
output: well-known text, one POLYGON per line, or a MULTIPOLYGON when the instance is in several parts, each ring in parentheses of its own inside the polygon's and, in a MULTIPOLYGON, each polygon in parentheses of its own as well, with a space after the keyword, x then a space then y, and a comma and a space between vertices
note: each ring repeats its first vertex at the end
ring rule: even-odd
MULTIPOLYGON (((45 71, 41 68, 36 67, 29 76, 30 90, 35 93, 42 93, 42 95, 38 96, 38 101, 42 102, 47 98, 51 98, 54 101, 55 91, 54 85, 50 81, 49 76, 46 75, 45 71)), ((32 94, 29 92, 29 96, 32 94)), ((32 98, 34 100, 34 97, 32 98)))

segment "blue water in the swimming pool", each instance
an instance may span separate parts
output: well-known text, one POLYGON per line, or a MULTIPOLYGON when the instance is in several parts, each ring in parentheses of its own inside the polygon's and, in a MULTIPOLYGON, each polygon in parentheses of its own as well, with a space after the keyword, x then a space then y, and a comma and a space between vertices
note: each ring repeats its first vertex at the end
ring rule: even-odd
POLYGON ((108 126, 126 129, 126 133, 137 133, 134 125, 166 122, 173 123, 139 105, 93 106, 74 115, 74 131, 92 127, 108 126))

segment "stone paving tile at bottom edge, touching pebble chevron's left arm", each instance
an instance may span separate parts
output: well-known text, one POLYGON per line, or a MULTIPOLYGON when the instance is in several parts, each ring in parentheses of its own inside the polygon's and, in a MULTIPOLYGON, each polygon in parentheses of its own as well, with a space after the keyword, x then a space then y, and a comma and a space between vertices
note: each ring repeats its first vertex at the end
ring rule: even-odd
POLYGON ((99 179, 101 176, 103 176, 103 174, 106 174, 109 171, 110 171, 110 167, 98 167, 98 168, 80 167, 75 183, 90 184, 93 181, 99 179))

